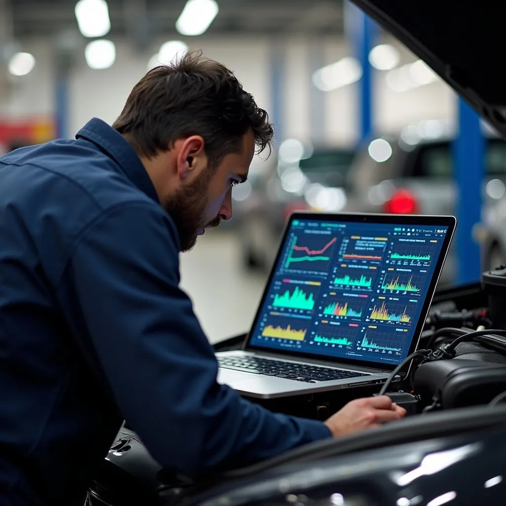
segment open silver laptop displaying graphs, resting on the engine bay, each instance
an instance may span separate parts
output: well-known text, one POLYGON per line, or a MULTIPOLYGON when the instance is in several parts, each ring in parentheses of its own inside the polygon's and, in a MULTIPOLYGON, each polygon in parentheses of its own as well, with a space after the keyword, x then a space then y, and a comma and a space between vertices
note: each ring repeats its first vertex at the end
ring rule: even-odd
POLYGON ((384 383, 418 346, 455 227, 292 214, 242 349, 216 354, 218 382, 256 398, 384 383))

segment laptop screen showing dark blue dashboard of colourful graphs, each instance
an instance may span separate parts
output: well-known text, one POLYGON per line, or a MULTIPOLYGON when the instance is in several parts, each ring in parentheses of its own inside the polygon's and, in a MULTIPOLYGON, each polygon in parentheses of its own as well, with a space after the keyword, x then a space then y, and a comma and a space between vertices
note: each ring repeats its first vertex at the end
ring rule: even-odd
POLYGON ((418 341, 455 220, 323 216, 292 217, 248 348, 399 364, 418 341))

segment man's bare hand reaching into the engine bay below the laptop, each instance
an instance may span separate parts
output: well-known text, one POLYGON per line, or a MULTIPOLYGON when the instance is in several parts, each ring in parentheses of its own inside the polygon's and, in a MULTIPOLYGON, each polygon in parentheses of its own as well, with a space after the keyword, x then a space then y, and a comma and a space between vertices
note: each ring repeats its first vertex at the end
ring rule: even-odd
POLYGON ((334 437, 346 436, 364 429, 371 429, 399 420, 406 410, 394 404, 390 397, 355 399, 325 421, 334 437))

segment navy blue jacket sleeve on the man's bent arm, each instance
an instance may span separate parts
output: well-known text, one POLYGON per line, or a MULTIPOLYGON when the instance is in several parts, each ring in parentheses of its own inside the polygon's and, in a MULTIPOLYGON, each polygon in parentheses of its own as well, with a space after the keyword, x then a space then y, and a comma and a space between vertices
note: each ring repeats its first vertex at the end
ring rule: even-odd
MULTIPOLYGON (((274 414, 217 383, 213 348, 178 287, 176 234, 148 203, 116 207, 81 234, 65 272, 119 409, 153 457, 195 476, 330 437, 320 421, 274 414)), ((217 317, 230 311, 217 299, 217 317)))

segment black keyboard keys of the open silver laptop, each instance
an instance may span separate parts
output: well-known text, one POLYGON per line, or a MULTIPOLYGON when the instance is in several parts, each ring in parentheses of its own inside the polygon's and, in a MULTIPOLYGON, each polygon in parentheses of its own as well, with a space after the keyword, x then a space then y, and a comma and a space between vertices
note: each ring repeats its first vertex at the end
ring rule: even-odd
POLYGON ((280 360, 258 357, 219 357, 218 363, 220 367, 224 369, 294 379, 304 383, 316 383, 319 381, 332 381, 333 379, 349 379, 370 375, 362 372, 331 369, 330 367, 310 364, 295 364, 293 362, 282 362, 280 360))

